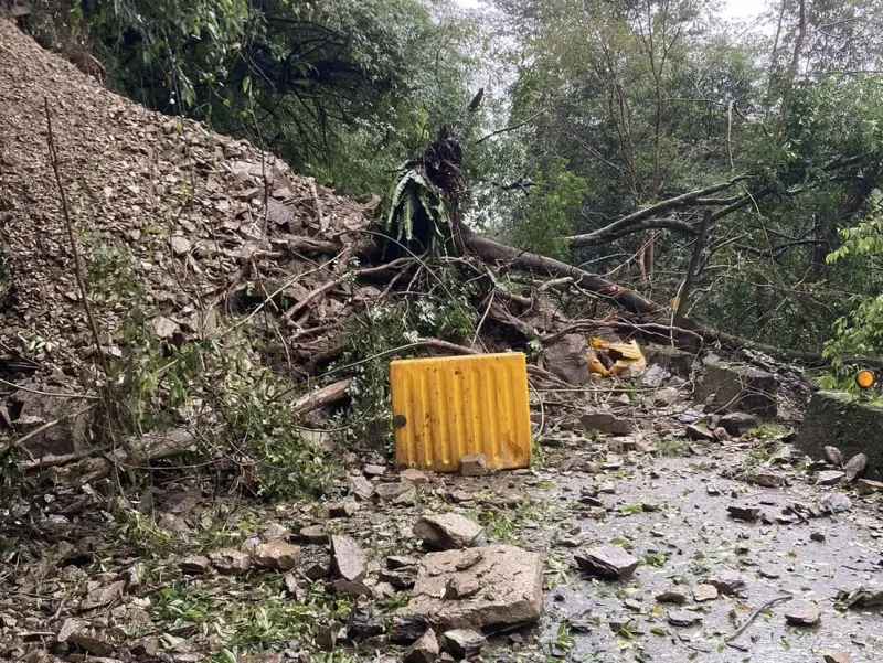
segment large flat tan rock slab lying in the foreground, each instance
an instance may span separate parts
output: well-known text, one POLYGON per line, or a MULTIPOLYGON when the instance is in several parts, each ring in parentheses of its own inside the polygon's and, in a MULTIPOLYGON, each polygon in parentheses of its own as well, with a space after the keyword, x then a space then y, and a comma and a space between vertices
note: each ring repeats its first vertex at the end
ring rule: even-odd
MULTIPOLYGON (((494 545, 426 555, 411 602, 398 618, 422 618, 439 629, 483 629, 536 622, 543 611, 543 559, 515 546, 494 545), (466 600, 443 598, 451 578, 482 589, 466 600)), ((395 630, 395 629, 394 629, 395 630)))

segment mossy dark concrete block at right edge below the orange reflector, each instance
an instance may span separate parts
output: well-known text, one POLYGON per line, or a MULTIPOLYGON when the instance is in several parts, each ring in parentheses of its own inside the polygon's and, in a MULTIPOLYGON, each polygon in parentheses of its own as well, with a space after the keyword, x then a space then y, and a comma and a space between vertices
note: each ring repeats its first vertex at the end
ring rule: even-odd
POLYGON ((807 405, 795 445, 810 458, 826 459, 826 448, 833 447, 841 451, 832 456, 840 461, 832 463, 837 466, 844 458, 851 460, 864 453, 866 478, 883 481, 883 405, 841 392, 816 392, 807 405))

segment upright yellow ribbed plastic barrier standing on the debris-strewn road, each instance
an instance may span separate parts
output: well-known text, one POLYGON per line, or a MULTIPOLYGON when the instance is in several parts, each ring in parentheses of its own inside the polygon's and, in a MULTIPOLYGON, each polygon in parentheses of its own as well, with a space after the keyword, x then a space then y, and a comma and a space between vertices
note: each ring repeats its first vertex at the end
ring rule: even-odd
POLYGON ((457 472, 471 453, 483 453, 491 469, 530 467, 523 354, 395 361, 390 385, 397 467, 457 472))

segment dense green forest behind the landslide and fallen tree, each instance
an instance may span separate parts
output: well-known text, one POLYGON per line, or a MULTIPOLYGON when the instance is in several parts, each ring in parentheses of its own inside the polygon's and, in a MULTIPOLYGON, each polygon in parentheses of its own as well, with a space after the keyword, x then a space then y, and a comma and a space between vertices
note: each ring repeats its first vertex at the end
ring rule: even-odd
POLYGON ((751 24, 702 0, 30 9, 105 85, 349 195, 386 192, 448 127, 478 229, 730 333, 883 351, 880 0, 772 0, 751 24))

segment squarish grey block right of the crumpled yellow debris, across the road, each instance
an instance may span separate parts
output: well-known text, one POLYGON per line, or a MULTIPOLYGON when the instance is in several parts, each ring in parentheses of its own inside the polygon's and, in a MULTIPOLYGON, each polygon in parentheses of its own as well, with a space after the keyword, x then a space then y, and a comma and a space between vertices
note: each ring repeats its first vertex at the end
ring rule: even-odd
MULTIPOLYGON (((716 362, 705 368, 705 375, 696 386, 698 402, 709 402, 715 411, 744 411, 773 418, 778 414, 776 376, 766 371, 716 362)), ((723 425, 732 436, 733 432, 723 425)))

